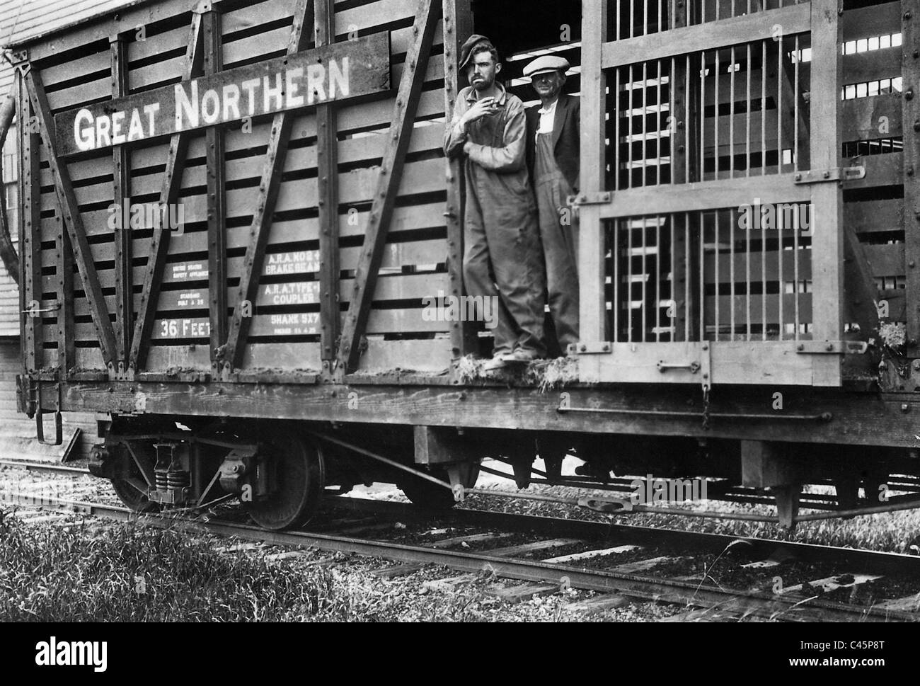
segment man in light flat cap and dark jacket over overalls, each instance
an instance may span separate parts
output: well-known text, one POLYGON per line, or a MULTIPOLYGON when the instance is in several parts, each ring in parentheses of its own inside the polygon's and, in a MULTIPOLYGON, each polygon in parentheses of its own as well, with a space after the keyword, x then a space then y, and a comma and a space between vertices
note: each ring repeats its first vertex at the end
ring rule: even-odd
POLYGON ((527 110, 527 166, 536 191, 549 312, 561 354, 579 341, 578 236, 566 198, 579 187, 581 105, 562 92, 568 69, 569 61, 557 55, 543 55, 523 68, 541 103, 527 110))

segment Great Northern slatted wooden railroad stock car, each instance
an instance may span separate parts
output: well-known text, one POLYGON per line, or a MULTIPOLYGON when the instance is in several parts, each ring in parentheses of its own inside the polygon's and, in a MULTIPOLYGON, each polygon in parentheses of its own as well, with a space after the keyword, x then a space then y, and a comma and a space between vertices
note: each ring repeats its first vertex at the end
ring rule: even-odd
POLYGON ((20 408, 106 413, 92 470, 134 508, 238 496, 270 529, 375 481, 450 506, 487 457, 519 487, 537 456, 540 482, 707 477, 786 524, 914 506, 918 14, 142 0, 13 46, 20 408), (545 53, 581 96, 581 341, 495 373, 444 314, 473 32, 525 102, 545 53))

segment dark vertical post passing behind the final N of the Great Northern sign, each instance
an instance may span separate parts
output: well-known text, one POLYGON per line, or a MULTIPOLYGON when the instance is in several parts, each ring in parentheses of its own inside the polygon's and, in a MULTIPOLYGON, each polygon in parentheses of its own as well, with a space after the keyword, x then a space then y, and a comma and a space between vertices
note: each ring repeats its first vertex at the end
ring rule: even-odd
MULTIPOLYGON (((333 0, 316 0, 316 47, 336 40, 333 0)), ((323 373, 335 366, 339 339, 339 137, 335 105, 316 108, 316 165, 319 203, 319 343, 323 373)))

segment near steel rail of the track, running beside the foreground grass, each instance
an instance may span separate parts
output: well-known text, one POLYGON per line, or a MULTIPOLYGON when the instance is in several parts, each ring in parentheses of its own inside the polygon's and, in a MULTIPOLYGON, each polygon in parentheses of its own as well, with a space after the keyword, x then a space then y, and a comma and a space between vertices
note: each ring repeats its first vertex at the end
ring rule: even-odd
MULTIPOLYGON (((567 585, 586 590, 618 593, 630 598, 681 604, 700 608, 730 608, 771 619, 841 621, 858 618, 862 622, 920 621, 920 615, 897 610, 857 608, 819 599, 783 598, 774 595, 706 587, 672 579, 654 579, 645 576, 617 574, 605 570, 571 567, 561 564, 514 560, 495 557, 487 553, 458 552, 425 548, 386 541, 368 541, 335 534, 308 531, 267 531, 254 526, 222 520, 199 522, 185 517, 164 515, 138 515, 125 507, 95 503, 41 499, 41 507, 79 512, 120 521, 144 520, 157 527, 179 525, 182 529, 224 536, 236 536, 247 541, 271 545, 307 546, 328 552, 351 552, 366 557, 383 558, 395 562, 439 564, 464 572, 492 572, 496 576, 523 581, 567 585)), ((541 517, 535 517, 541 518, 541 517)), ((566 521, 566 520, 563 520, 566 521)), ((836 549, 832 549, 836 550, 836 549)), ((888 553, 892 554, 892 553, 888 553)))

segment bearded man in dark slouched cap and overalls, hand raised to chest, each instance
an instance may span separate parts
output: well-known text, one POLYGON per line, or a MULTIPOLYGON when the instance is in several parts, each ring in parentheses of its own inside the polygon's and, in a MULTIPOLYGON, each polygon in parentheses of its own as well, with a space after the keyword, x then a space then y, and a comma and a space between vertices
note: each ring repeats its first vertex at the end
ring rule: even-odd
POLYGON ((459 59, 459 73, 470 85, 457 95, 444 137, 447 157, 466 161, 466 294, 495 297, 499 305, 487 371, 546 355, 545 277, 525 159, 524 107, 496 80, 500 71, 489 39, 470 36, 459 59))

